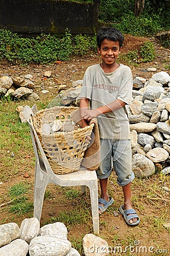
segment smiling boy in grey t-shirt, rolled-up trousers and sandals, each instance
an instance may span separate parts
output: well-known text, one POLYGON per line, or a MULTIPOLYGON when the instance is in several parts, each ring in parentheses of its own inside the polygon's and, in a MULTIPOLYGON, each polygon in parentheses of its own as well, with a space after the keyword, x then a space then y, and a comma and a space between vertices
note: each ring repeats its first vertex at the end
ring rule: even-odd
POLYGON ((126 223, 139 224, 139 217, 131 206, 130 128, 126 104, 131 104, 131 69, 118 64, 124 37, 113 27, 102 27, 97 34, 98 53, 102 62, 86 69, 81 90, 81 126, 88 125, 97 118, 100 137, 100 164, 97 176, 101 186, 98 200, 99 214, 105 212, 114 200, 107 192, 107 182, 111 175, 113 160, 117 182, 123 189, 124 203, 119 207, 126 223), (89 109, 90 105, 90 109, 89 109))

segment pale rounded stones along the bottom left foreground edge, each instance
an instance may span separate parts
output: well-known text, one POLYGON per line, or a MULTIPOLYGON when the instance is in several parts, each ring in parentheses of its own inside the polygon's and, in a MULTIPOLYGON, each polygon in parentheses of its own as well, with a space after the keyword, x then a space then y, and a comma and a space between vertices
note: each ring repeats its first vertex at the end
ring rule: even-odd
MULTIPOLYGON (((63 222, 47 224, 40 228, 40 223, 35 217, 25 218, 20 228, 14 222, 3 224, 0 225, 0 255, 80 256, 68 241, 67 234, 63 222)), ((85 256, 109 255, 107 242, 94 234, 86 234, 82 245, 85 256)))

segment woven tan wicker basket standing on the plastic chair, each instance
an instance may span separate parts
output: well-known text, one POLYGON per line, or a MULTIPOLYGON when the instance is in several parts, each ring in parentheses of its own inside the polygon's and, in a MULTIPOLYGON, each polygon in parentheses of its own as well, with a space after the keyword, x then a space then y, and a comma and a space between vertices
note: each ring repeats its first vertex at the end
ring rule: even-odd
POLYGON ((60 119, 65 125, 68 121, 71 123, 73 117, 74 122, 75 117, 76 122, 80 121, 79 112, 80 109, 76 107, 55 106, 40 110, 32 118, 40 143, 55 174, 68 174, 80 169, 88 146, 86 137, 91 135, 94 123, 84 128, 77 128, 77 125, 74 125, 72 131, 57 131, 49 135, 42 134, 42 125, 49 125, 56 119, 60 119))

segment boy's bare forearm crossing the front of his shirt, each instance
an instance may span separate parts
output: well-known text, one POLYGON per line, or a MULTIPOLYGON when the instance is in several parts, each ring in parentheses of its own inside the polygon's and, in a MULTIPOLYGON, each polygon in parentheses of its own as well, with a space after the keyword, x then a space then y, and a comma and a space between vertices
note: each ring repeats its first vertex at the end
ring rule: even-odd
POLYGON ((121 100, 115 100, 108 105, 101 106, 97 109, 85 109, 84 112, 81 112, 82 118, 87 121, 90 121, 92 118, 98 117, 98 115, 106 114, 109 112, 113 112, 114 110, 118 110, 123 108, 126 103, 121 100))

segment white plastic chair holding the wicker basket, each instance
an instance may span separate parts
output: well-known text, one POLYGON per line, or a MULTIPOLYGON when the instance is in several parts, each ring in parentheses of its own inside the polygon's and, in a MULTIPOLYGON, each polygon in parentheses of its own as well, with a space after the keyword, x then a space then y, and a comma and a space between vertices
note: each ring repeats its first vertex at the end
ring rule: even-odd
POLYGON ((99 216, 98 216, 98 180, 96 171, 82 169, 70 174, 57 175, 52 171, 51 166, 44 154, 38 135, 32 125, 33 112, 29 106, 23 110, 24 117, 30 125, 30 133, 34 152, 36 156, 35 163, 35 184, 34 184, 34 217, 40 220, 42 214, 45 188, 49 183, 71 187, 81 185, 82 191, 86 186, 90 189, 90 200, 92 205, 93 231, 99 234, 99 216), (36 140, 36 142, 35 142, 36 140), (40 152, 40 154, 39 154, 40 152))

